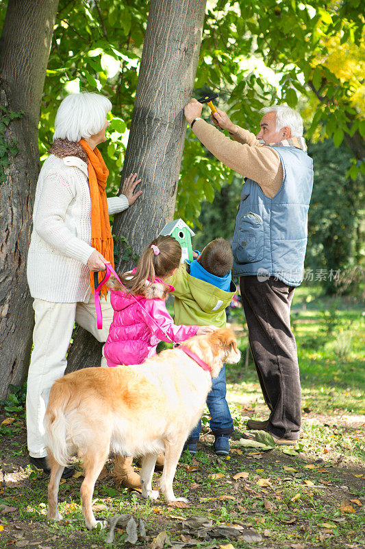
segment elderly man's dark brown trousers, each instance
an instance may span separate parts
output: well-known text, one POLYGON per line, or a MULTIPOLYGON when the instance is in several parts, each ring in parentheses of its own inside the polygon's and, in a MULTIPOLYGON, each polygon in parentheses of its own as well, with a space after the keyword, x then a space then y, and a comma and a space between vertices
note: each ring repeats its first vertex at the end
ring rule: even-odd
POLYGON ((294 288, 270 277, 240 277, 249 343, 265 402, 268 430, 279 438, 298 439, 301 428, 301 382, 297 344, 290 329, 294 288))

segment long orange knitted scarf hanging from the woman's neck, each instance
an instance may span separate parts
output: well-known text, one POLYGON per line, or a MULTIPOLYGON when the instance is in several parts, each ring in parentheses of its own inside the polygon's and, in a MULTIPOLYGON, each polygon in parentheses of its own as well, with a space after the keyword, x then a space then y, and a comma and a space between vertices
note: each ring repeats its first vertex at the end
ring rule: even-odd
MULTIPOLYGON (((109 170, 103 161, 99 150, 94 150, 90 145, 81 139, 81 147, 88 155, 88 176, 91 198, 91 246, 108 259, 114 268, 114 244, 112 229, 110 229, 108 200, 106 198, 105 188, 109 175, 109 170)), ((103 279, 104 273, 99 274, 99 281, 103 279)), ((90 286, 92 292, 95 292, 94 273, 90 272, 90 286)), ((108 293, 108 288, 103 285, 101 293, 108 293)))

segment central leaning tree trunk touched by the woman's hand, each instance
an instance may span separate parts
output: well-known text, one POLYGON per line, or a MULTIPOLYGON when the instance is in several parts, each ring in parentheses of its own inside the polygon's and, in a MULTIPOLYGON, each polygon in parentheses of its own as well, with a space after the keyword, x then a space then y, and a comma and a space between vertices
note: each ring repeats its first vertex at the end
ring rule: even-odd
MULTIPOLYGON (((136 101, 121 186, 131 172, 142 178, 143 194, 127 211, 116 215, 113 233, 125 236, 138 255, 173 219, 186 119, 184 106, 190 100, 199 60, 206 0, 151 0, 136 101)), ((131 263, 118 261, 117 270, 131 263)), ((77 358, 71 369, 83 367, 84 353, 95 346, 97 366, 100 355, 92 336, 79 330, 68 360, 77 358)))

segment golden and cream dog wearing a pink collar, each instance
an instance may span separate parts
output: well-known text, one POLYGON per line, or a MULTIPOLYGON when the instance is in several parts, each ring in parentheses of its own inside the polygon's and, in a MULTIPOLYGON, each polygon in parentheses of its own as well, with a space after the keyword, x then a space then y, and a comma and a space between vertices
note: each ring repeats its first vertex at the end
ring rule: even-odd
POLYGON ((233 332, 227 328, 190 338, 181 347, 186 351, 180 347, 166 349, 136 366, 86 368, 53 384, 45 415, 51 467, 50 519, 62 518, 58 513, 58 486, 73 455, 78 455, 84 466, 80 492, 88 528, 97 525, 92 494, 110 452, 142 456, 142 496, 152 499, 159 496, 152 489, 156 456, 164 452, 160 482, 164 498, 173 506, 188 502, 175 498, 173 492, 177 462, 201 417, 212 377, 218 376, 224 362, 238 362, 240 351, 233 332))

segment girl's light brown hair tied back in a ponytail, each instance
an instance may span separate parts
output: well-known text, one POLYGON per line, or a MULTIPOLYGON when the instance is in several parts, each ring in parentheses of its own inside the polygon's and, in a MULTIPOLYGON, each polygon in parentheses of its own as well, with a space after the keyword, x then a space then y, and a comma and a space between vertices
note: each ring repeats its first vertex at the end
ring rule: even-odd
POLYGON ((164 279, 172 270, 179 267, 181 261, 181 246, 172 236, 158 236, 144 250, 136 272, 130 277, 128 274, 121 274, 119 277, 125 285, 129 294, 143 294, 146 288, 146 281, 153 283, 155 277, 164 279), (160 250, 158 255, 151 246, 157 246, 160 250))

